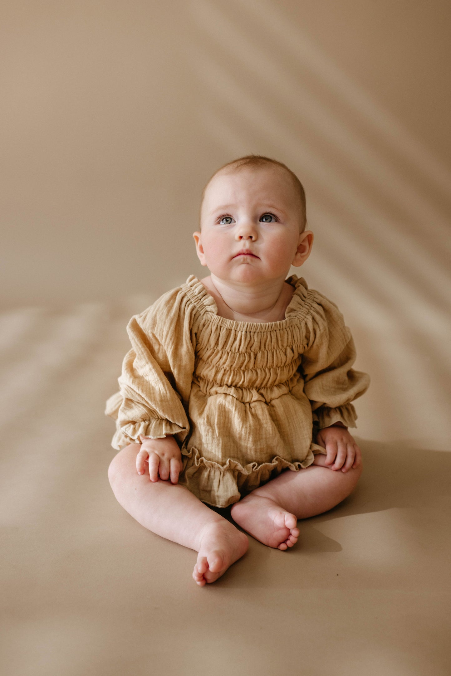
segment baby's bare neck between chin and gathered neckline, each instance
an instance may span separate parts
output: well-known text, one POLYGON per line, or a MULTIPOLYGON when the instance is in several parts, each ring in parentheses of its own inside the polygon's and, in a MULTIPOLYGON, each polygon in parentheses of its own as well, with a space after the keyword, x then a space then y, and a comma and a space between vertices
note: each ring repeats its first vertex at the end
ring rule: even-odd
POLYGON ((293 295, 285 281, 271 281, 259 287, 236 287, 212 275, 200 280, 212 295, 218 315, 241 322, 278 322, 293 295))

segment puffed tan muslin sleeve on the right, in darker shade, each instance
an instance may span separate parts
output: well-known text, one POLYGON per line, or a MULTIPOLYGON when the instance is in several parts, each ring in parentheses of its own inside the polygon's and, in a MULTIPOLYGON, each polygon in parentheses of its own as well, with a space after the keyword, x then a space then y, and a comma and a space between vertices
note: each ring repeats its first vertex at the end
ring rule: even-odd
POLYGON ((300 370, 318 429, 341 421, 356 427, 356 410, 351 404, 369 387, 369 375, 352 368, 356 349, 343 315, 335 303, 318 291, 306 324, 306 348, 300 370))

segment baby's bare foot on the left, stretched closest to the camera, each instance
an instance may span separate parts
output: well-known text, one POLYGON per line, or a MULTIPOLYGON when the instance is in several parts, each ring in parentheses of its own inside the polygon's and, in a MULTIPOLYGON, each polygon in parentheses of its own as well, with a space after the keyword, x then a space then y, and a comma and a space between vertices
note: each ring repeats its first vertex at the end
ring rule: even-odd
POLYGON ((227 519, 208 524, 200 536, 193 578, 200 587, 214 582, 247 552, 249 541, 227 519))

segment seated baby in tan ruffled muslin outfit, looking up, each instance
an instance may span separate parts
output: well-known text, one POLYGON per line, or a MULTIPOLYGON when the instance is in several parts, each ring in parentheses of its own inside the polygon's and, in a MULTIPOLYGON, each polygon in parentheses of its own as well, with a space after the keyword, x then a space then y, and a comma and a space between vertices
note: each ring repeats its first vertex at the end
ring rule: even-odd
POLYGON ((198 552, 201 586, 245 554, 243 531, 293 547, 298 519, 341 502, 362 471, 348 427, 369 377, 352 368, 337 306, 286 279, 312 250, 305 227, 304 189, 285 164, 229 162, 206 185, 193 234, 211 274, 128 323, 106 408, 122 448, 110 483, 144 527, 198 552), (217 509, 229 506, 242 530, 217 509))

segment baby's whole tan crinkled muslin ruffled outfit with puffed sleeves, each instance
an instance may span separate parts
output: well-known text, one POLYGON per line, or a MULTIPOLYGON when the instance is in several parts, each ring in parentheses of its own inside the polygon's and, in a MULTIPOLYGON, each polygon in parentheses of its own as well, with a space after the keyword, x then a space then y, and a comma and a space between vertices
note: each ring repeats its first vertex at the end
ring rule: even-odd
POLYGON ((308 467, 325 450, 316 429, 356 427, 351 402, 369 387, 354 370, 354 341, 337 306, 303 277, 278 322, 218 315, 191 274, 135 315, 120 391, 105 413, 113 448, 141 437, 179 441, 179 483, 199 500, 227 507, 285 468, 308 467))

